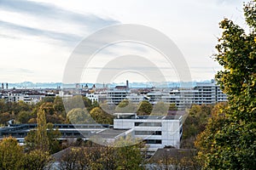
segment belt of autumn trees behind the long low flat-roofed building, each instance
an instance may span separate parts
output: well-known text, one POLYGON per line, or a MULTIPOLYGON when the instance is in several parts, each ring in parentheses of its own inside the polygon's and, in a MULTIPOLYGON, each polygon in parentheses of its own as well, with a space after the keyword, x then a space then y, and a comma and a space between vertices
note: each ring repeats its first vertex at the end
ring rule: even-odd
POLYGON ((0 125, 4 126, 9 120, 15 124, 37 123, 39 110, 43 110, 47 123, 101 123, 113 124, 114 112, 137 112, 137 115, 166 115, 168 110, 177 110, 175 105, 166 105, 163 102, 151 105, 148 101, 142 101, 139 105, 132 104, 127 99, 119 105, 108 105, 91 102, 82 96, 73 96, 63 104, 61 97, 45 97, 35 105, 26 104, 23 101, 5 102, 0 99, 0 125), (81 103, 82 101, 83 103, 81 103), (67 109, 65 109, 65 106, 67 109), (79 104, 79 105, 77 105, 79 104), (68 108, 71 108, 70 111, 68 108))

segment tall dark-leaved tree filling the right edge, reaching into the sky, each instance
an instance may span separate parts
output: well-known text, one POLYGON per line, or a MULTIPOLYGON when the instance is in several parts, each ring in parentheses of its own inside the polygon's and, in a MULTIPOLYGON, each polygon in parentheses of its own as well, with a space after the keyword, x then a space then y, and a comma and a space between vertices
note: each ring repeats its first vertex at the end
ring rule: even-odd
POLYGON ((223 34, 216 60, 224 70, 218 71, 216 79, 229 103, 224 117, 218 114, 212 119, 214 123, 209 122, 197 140, 199 158, 207 169, 256 167, 256 1, 245 4, 244 12, 248 33, 232 20, 220 22, 223 34))

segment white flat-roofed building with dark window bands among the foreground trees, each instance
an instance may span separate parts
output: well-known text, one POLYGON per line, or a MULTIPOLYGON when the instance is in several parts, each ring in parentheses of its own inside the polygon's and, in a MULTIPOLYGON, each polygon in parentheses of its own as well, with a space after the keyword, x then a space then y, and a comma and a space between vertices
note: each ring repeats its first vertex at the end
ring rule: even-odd
POLYGON ((183 133, 182 116, 137 116, 136 113, 115 113, 114 129, 131 129, 131 135, 143 139, 148 151, 165 146, 180 147, 183 133))

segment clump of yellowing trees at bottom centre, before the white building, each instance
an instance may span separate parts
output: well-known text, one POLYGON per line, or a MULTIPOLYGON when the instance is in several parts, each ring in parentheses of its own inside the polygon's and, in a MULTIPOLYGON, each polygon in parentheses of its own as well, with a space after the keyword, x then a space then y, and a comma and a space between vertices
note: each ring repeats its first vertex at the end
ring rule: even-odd
MULTIPOLYGON (((142 141, 119 138, 109 145, 87 143, 61 151, 60 169, 143 169, 145 144, 142 141)), ((58 158, 57 158, 58 159, 58 158)))

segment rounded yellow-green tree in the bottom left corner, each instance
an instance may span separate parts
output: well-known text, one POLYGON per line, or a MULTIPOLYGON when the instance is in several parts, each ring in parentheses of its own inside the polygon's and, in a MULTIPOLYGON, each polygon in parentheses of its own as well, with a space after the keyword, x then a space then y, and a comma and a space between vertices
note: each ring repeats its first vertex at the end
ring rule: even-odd
POLYGON ((9 137, 0 142, 0 168, 20 169, 23 149, 17 140, 9 137))

